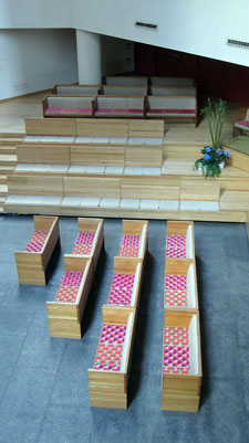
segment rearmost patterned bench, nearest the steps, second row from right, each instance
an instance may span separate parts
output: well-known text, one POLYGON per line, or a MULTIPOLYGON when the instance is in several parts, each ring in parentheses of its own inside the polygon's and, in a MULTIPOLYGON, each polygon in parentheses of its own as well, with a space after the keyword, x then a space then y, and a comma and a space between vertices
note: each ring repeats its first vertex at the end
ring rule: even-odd
POLYGON ((123 220, 123 235, 117 256, 123 259, 145 259, 147 250, 148 222, 145 220, 123 220))

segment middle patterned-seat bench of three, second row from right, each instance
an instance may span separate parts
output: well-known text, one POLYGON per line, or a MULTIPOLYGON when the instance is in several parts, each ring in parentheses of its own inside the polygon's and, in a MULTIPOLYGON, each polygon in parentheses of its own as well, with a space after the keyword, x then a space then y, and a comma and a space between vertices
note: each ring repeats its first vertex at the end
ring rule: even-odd
POLYGON ((143 262, 139 259, 114 257, 114 274, 107 306, 138 306, 143 262))

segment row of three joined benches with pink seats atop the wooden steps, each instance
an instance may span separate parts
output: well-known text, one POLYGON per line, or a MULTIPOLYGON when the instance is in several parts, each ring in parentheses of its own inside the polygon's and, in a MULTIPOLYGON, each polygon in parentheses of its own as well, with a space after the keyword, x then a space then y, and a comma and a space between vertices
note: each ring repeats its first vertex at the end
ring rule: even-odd
MULTIPOLYGON (((157 89, 158 91, 158 89, 157 89)), ((164 91, 163 91, 164 92, 164 91)), ((195 95, 46 95, 42 101, 43 117, 49 118, 175 118, 197 125, 195 95)))

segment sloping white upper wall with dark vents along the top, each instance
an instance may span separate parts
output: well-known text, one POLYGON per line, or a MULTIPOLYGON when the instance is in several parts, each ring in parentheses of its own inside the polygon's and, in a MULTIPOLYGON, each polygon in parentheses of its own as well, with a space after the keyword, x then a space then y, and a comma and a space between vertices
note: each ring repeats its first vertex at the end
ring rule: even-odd
POLYGON ((226 44, 249 41, 248 0, 0 0, 0 28, 75 28, 249 66, 249 50, 226 44))

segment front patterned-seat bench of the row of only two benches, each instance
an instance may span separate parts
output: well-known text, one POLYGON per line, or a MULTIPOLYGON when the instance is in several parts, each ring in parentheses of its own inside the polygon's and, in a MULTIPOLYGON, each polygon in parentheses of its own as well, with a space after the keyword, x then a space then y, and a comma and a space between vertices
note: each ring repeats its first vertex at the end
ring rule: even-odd
POLYGON ((93 281, 93 262, 85 256, 64 256, 65 272, 54 302, 46 302, 51 337, 82 337, 81 320, 93 281))

